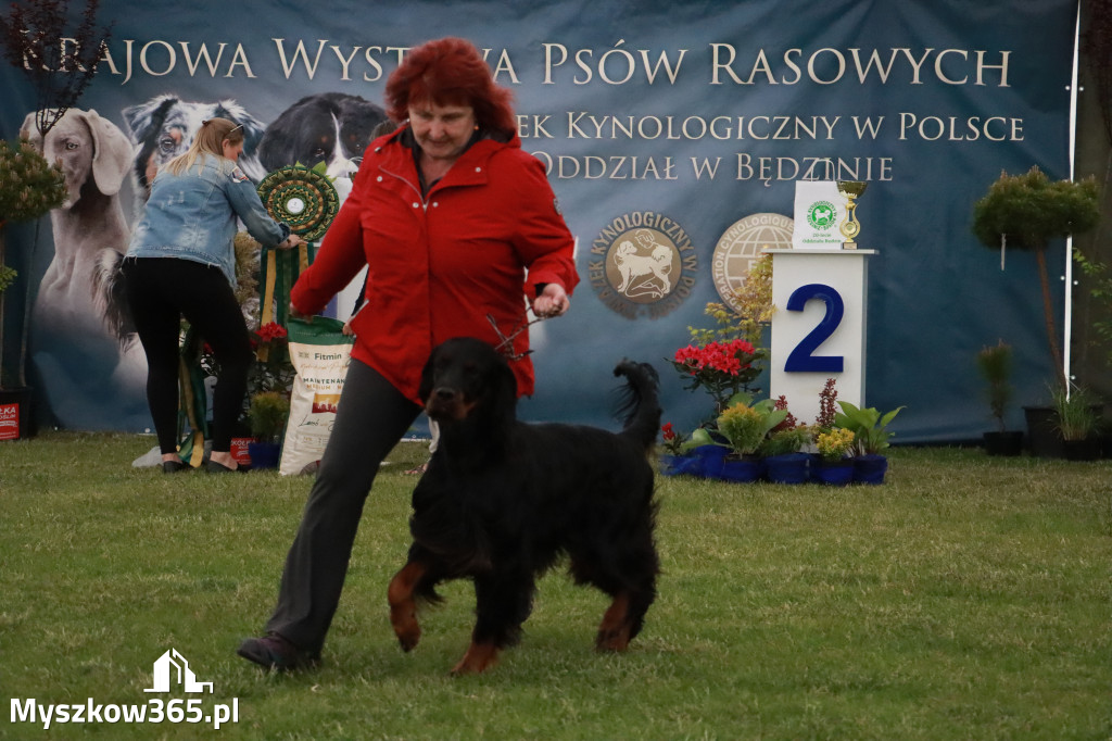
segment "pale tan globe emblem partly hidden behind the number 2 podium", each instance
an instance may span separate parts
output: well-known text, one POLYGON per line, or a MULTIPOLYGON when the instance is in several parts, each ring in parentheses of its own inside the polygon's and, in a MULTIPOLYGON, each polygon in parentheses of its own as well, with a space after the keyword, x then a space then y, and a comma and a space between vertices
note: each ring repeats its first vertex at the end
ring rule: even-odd
POLYGON ((714 287, 726 306, 742 313, 737 292, 749 268, 766 249, 791 249, 794 230, 795 221, 780 214, 752 214, 726 229, 711 263, 714 287))

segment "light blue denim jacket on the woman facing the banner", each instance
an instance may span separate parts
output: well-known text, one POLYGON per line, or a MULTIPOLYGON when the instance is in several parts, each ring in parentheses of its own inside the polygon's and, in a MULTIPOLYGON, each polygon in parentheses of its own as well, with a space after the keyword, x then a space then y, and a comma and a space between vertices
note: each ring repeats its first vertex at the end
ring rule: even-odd
POLYGON ((289 236, 289 226, 267 215, 255 185, 235 162, 205 154, 182 175, 162 170, 155 178, 142 218, 131 233, 128 257, 178 257, 212 265, 235 286, 236 217, 266 247, 289 236))

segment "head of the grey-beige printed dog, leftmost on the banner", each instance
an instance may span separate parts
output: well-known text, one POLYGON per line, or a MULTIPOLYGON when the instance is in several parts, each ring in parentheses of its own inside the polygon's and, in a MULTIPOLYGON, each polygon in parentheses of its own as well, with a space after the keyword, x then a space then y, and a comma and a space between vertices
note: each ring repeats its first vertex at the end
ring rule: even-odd
POLYGON ((27 115, 19 136, 30 141, 48 162, 61 165, 68 194, 62 208, 72 208, 87 184, 106 196, 119 192, 132 148, 118 126, 95 110, 70 108, 43 138, 34 119, 36 113, 27 115))

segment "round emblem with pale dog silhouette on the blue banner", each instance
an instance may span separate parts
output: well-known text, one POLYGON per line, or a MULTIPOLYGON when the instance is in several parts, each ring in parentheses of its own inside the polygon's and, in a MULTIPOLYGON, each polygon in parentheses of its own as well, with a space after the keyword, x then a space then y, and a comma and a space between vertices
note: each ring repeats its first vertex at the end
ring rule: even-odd
POLYGON ((629 319, 658 319, 675 310, 691 295, 697 270, 687 231, 655 211, 613 219, 590 245, 590 287, 629 319))

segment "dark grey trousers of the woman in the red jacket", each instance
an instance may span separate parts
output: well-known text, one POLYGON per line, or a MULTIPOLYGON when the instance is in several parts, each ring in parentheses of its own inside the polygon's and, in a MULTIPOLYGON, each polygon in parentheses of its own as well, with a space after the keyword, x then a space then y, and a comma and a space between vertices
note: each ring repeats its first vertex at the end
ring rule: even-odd
POLYGON ((370 366, 353 359, 336 423, 286 556, 267 631, 319 653, 339 604, 351 546, 378 467, 420 414, 370 366))

